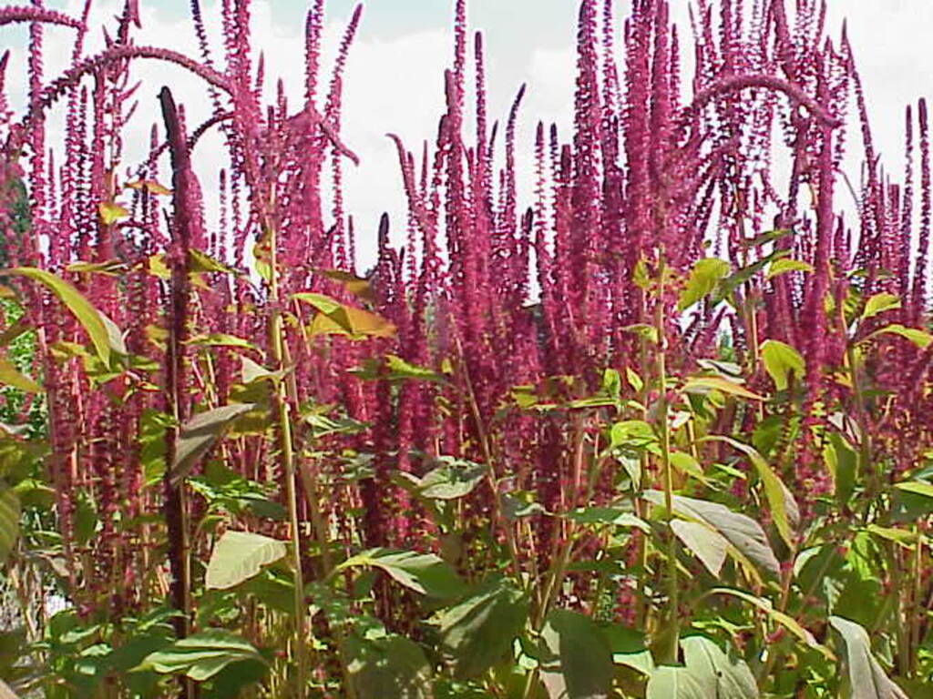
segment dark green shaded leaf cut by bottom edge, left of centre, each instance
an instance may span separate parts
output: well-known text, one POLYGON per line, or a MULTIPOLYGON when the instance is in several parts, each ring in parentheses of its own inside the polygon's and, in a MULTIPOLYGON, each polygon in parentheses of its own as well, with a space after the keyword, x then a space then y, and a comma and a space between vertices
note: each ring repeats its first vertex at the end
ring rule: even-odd
POLYGON ((355 697, 431 699, 431 665, 425 651, 395 634, 369 636, 354 633, 342 644, 355 697))

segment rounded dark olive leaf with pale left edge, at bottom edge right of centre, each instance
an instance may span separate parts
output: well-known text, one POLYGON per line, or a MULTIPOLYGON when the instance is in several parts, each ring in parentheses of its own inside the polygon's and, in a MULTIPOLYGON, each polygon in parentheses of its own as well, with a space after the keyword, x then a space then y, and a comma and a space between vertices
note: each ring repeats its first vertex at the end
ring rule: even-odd
POLYGON ((612 649, 603 629, 576 611, 553 610, 541 630, 541 679, 550 699, 597 699, 612 687, 612 649))

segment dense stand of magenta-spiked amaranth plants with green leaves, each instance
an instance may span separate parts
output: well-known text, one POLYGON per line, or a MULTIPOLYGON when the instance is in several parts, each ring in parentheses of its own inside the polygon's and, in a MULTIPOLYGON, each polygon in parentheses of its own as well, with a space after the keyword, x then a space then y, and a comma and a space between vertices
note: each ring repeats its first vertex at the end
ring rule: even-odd
POLYGON ((896 175, 815 0, 697 0, 689 32, 664 0, 582 0, 573 132, 517 153, 524 89, 491 124, 458 0, 436 138, 391 136, 405 234, 384 217, 364 271, 361 10, 325 72, 323 5, 299 104, 262 101, 249 0, 221 47, 192 0, 196 57, 134 44, 133 0, 97 55, 90 2, 0 8, 30 26, 0 61, 30 78, 22 114, 0 90, 7 685, 929 696, 926 103, 896 175), (136 114, 143 60, 202 78, 214 117, 168 88, 136 114), (208 130, 229 165, 199 183, 208 130))

